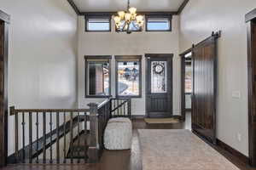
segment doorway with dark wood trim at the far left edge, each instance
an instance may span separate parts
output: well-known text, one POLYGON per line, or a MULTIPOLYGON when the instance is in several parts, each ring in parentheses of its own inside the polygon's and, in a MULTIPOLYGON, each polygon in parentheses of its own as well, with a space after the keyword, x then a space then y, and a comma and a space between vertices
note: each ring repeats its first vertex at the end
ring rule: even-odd
POLYGON ((0 167, 8 150, 8 37, 9 15, 0 10, 0 167))

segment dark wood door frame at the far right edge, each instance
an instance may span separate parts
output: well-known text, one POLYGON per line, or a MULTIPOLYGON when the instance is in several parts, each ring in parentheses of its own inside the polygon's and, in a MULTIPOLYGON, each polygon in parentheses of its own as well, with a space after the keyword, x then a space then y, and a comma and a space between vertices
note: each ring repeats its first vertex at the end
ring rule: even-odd
MULTIPOLYGON (((253 61, 256 58, 256 49, 253 48, 252 39, 252 25, 256 25, 256 8, 245 16, 247 22, 247 77, 248 77, 248 147, 249 147, 249 164, 256 167, 256 116, 254 103, 256 102, 256 96, 253 95, 253 84, 255 82, 256 72, 255 66, 253 66, 253 61)), ((256 41, 256 40, 254 40, 256 41)), ((255 44, 256 42, 254 42, 255 44)))

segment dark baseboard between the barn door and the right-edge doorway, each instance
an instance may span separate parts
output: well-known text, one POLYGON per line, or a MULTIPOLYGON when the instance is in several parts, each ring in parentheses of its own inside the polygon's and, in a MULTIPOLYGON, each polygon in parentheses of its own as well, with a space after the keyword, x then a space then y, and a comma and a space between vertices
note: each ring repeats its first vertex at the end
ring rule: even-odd
POLYGON ((216 140, 217 146, 227 152, 229 152, 232 156, 236 157, 238 160, 241 162, 248 164, 249 163, 249 157, 243 155, 240 151, 232 148, 229 144, 225 144, 223 141, 220 139, 216 140))

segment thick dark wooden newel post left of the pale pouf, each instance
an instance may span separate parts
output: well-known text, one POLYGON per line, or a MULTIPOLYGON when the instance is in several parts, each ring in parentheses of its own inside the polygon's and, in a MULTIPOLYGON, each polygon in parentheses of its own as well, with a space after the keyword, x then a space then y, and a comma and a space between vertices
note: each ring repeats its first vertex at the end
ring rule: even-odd
POLYGON ((96 103, 90 103, 88 106, 90 106, 90 143, 88 156, 90 162, 97 162, 100 158, 98 105, 96 103))

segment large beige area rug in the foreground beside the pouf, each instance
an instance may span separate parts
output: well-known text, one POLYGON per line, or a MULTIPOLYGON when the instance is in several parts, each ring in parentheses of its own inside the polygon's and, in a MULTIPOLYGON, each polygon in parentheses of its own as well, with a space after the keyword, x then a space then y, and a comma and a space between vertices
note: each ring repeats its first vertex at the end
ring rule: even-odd
POLYGON ((239 170, 189 130, 138 130, 143 170, 239 170))

